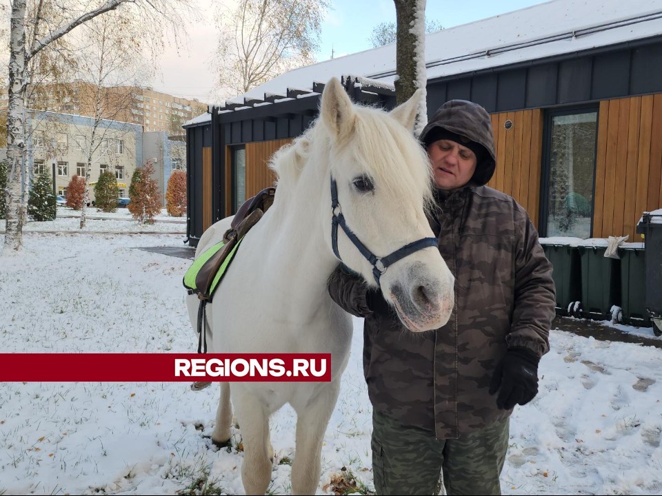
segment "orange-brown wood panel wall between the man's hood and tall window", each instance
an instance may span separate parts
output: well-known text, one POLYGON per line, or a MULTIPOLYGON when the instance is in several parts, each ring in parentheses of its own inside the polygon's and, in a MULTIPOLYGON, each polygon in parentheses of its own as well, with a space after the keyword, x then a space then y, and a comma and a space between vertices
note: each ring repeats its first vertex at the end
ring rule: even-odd
POLYGON ((543 145, 541 109, 492 114, 496 170, 488 186, 509 194, 528 211, 538 227, 543 145), (512 127, 505 129, 505 122, 512 127))

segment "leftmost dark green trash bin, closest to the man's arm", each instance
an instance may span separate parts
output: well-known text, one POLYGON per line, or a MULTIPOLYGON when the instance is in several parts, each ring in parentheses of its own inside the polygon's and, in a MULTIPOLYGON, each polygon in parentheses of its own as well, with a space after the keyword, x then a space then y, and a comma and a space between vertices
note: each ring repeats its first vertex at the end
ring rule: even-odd
POLYGON ((577 247, 541 243, 545 256, 552 263, 552 279, 556 286, 556 314, 572 315, 574 302, 581 298, 581 261, 577 247))

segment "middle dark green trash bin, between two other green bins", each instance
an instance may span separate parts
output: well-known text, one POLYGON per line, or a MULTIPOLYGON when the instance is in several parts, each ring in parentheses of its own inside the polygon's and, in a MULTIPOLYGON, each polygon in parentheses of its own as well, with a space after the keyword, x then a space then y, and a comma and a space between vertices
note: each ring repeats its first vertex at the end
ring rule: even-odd
POLYGON ((621 307, 621 260, 605 257, 606 246, 577 247, 581 259, 579 315, 612 320, 612 307, 621 307))

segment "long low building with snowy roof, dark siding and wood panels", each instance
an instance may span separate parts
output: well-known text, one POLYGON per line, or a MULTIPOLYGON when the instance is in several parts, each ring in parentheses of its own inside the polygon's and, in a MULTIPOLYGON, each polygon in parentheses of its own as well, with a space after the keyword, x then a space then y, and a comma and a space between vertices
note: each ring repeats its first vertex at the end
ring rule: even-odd
MULTIPOLYGON (((662 0, 553 0, 428 34, 428 116, 492 115, 497 168, 541 236, 630 235, 662 205, 662 0)), ((394 105, 395 45, 292 70, 186 123, 192 245, 272 183, 270 155, 317 116, 323 85, 394 105)))

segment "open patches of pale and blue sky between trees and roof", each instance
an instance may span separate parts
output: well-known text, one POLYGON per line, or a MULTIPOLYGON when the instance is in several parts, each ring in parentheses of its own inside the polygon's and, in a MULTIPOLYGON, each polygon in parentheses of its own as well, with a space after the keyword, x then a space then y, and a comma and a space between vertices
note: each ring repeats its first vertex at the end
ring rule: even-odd
MULTIPOLYGON (((428 0, 425 17, 438 21, 444 28, 479 21, 526 8, 541 0, 475 0, 470 2, 428 0)), ((372 29, 383 22, 395 21, 392 0, 330 0, 321 27, 317 61, 361 52, 372 48, 372 29)), ((154 89, 177 96, 197 98, 214 103, 214 74, 212 59, 217 33, 214 30, 213 12, 219 0, 199 0, 203 21, 188 28, 188 40, 179 49, 167 47, 161 56, 161 74, 155 74, 154 89)))

